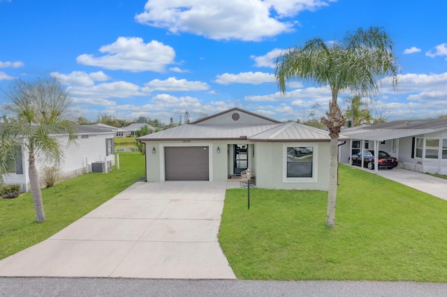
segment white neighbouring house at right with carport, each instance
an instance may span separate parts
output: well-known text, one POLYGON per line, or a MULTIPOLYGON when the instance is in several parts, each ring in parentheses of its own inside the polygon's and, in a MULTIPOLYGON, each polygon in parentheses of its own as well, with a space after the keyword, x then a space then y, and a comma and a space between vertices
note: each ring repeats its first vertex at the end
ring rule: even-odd
POLYGON ((339 162, 347 163, 362 148, 386 151, 399 167, 431 174, 447 174, 447 119, 391 121, 377 125, 346 128, 349 137, 339 146, 339 162))

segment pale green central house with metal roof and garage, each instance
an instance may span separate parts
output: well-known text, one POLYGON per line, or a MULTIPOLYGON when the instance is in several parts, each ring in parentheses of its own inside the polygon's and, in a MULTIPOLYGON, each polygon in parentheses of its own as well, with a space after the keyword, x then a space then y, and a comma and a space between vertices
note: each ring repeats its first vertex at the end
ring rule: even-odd
POLYGON ((327 131, 233 108, 137 139, 147 181, 228 181, 247 167, 256 186, 328 190, 327 131))

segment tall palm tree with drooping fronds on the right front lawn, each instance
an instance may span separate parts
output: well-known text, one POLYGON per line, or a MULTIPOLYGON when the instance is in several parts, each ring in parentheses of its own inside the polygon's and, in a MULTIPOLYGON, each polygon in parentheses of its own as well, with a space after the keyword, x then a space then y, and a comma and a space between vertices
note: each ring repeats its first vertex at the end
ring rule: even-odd
POLYGON ((286 82, 294 79, 328 86, 332 93, 329 112, 321 119, 330 135, 330 183, 326 224, 335 226, 335 201, 338 178, 338 137, 346 119, 337 105, 339 91, 375 96, 378 81, 392 77, 397 84, 398 66, 393 54, 393 40, 379 27, 362 28, 346 33, 333 43, 321 38, 307 41, 302 47, 291 47, 277 59, 275 75, 278 89, 286 93, 286 82))

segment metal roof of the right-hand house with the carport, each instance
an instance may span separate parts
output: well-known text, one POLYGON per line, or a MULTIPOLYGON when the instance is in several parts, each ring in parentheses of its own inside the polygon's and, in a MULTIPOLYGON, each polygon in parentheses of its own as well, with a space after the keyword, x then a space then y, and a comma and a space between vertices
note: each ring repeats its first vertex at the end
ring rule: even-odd
POLYGON ((342 134, 351 139, 389 140, 447 130, 447 119, 391 121, 377 125, 345 128, 342 134))

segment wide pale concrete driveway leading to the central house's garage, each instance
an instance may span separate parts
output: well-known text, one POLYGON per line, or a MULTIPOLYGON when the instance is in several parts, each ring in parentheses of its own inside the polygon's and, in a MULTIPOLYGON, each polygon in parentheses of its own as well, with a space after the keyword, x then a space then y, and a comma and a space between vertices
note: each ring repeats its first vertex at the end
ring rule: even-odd
POLYGON ((218 242, 226 183, 135 183, 37 245, 0 276, 235 279, 218 242))

